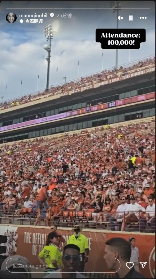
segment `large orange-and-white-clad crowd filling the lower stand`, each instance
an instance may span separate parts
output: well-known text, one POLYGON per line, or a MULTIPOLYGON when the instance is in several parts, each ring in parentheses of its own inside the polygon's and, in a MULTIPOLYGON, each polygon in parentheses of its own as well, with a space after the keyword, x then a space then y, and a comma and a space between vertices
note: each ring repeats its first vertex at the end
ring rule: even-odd
POLYGON ((1 216, 27 212, 35 225, 86 219, 154 232, 155 130, 142 132, 150 124, 3 144, 1 216))

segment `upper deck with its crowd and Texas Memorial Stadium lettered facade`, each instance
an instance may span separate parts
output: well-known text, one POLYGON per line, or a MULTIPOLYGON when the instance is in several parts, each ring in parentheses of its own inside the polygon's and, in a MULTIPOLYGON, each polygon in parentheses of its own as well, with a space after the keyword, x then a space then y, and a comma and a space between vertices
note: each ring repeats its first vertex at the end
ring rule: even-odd
MULTIPOLYGON (((121 82, 125 84, 125 80, 129 78, 137 78, 138 76, 142 75, 149 75, 147 78, 151 78, 150 74, 155 71, 155 57, 149 58, 149 59, 144 59, 142 61, 137 61, 137 63, 132 63, 131 65, 125 66, 125 67, 120 67, 118 70, 115 69, 109 69, 109 70, 104 70, 100 73, 96 73, 92 76, 89 77, 84 77, 76 81, 71 81, 70 83, 59 85, 57 87, 51 87, 49 92, 47 93, 45 90, 41 92, 37 92, 35 95, 29 94, 24 97, 19 97, 14 100, 10 100, 8 102, 4 102, 1 104, 1 115, 11 112, 17 111, 17 106, 18 109, 22 109, 24 107, 28 106, 35 106, 37 104, 42 103, 43 107, 43 102, 44 105, 46 105, 46 102, 52 101, 54 103, 54 99, 56 99, 66 96, 67 95, 72 95, 73 93, 80 93, 85 91, 85 94, 87 93, 99 93, 100 88, 103 90, 103 85, 106 89, 108 87, 112 90, 113 88, 110 86, 111 83, 117 83, 120 81, 120 86, 121 82), (96 89, 95 89, 96 88, 96 89)), ((137 80, 135 80, 135 83, 137 80)), ((126 82, 127 83, 127 82, 126 82)), ((116 85, 115 85, 116 87, 116 85)), ((122 86, 121 86, 122 87, 122 86)), ((80 96, 79 97, 82 97, 80 96)), ((72 97, 72 96, 71 96, 72 97)), ((73 99, 73 97, 71 98, 73 99)), ((63 99, 61 98, 63 101, 63 99)), ((61 101, 61 102, 62 102, 61 101)), ((60 102, 60 103, 61 103, 60 102)), ((11 113, 12 115, 12 113, 11 113)))

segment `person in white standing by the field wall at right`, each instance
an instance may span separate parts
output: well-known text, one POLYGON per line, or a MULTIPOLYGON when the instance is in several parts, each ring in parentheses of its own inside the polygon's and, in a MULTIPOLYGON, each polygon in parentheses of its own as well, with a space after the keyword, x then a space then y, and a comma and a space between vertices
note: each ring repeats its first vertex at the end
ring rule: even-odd
POLYGON ((136 239, 134 237, 130 237, 129 243, 131 244, 131 258, 130 262, 134 263, 134 268, 137 272, 140 272, 139 270, 139 249, 135 246, 136 239))

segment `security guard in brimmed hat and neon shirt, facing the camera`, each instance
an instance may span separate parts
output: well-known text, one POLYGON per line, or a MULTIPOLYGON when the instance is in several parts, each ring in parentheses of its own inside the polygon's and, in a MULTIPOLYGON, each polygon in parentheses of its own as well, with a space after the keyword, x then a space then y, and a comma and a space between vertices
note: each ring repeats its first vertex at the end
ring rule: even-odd
POLYGON ((80 233, 81 229, 79 225, 74 226, 74 234, 72 234, 67 244, 75 244, 80 248, 80 266, 77 271, 81 274, 84 273, 85 262, 88 262, 89 244, 85 235, 80 233))

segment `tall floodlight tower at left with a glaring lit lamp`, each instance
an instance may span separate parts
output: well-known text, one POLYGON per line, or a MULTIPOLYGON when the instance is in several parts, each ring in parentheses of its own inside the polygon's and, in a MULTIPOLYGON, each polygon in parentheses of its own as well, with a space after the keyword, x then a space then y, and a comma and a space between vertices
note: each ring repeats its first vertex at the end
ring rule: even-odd
POLYGON ((53 28, 53 24, 49 24, 45 26, 44 33, 47 41, 49 41, 49 45, 44 45, 44 50, 47 51, 48 55, 45 59, 48 62, 47 67, 47 82, 46 82, 46 92, 49 91, 49 76, 50 76, 50 57, 51 57, 51 40, 53 39, 53 34, 56 32, 56 28, 53 28))

